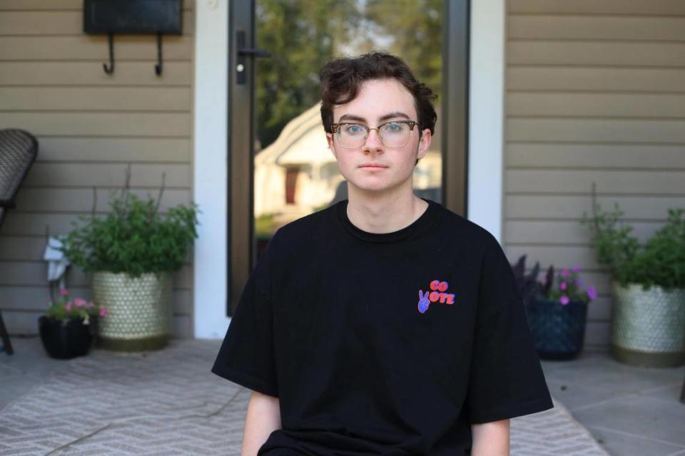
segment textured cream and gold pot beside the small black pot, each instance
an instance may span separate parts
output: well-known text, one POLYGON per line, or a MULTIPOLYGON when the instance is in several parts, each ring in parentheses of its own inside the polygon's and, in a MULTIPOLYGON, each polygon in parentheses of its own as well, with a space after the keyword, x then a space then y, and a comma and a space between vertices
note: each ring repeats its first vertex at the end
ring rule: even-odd
POLYGON ((158 350, 171 328, 171 272, 134 278, 93 272, 93 300, 107 308, 98 322, 98 346, 113 351, 158 350))

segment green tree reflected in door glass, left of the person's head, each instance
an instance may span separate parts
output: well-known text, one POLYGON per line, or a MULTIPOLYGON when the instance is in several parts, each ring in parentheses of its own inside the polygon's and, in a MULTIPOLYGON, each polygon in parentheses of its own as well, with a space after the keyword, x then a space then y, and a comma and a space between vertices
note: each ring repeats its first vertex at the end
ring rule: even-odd
POLYGON ((260 0, 257 43, 271 53, 257 65, 258 138, 266 146, 288 121, 320 102, 319 70, 349 41, 354 0, 260 0))

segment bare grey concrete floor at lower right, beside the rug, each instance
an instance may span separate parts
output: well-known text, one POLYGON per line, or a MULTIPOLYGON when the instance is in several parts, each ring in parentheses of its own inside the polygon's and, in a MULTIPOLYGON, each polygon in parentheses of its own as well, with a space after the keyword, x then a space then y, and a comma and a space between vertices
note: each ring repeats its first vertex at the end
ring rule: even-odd
POLYGON ((628 366, 606 351, 541 364, 552 396, 609 454, 685 455, 685 367, 628 366))

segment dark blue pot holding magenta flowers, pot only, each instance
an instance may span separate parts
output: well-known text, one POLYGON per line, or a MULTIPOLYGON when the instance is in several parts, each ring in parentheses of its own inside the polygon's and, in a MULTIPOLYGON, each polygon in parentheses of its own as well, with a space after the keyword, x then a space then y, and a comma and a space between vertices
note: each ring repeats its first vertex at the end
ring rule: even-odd
POLYGON ((583 349, 587 303, 533 296, 526 316, 537 354, 544 359, 572 359, 583 349))

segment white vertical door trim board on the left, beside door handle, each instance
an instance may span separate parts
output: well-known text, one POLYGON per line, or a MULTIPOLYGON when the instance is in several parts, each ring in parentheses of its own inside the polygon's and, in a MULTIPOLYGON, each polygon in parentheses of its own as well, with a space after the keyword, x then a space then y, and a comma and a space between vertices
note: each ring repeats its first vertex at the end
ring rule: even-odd
POLYGON ((196 338, 223 338, 226 314, 228 201, 228 1, 196 2, 193 200, 198 239, 193 254, 196 338))

